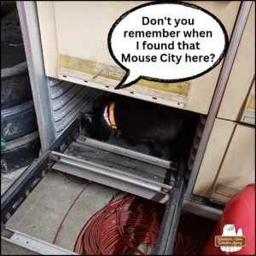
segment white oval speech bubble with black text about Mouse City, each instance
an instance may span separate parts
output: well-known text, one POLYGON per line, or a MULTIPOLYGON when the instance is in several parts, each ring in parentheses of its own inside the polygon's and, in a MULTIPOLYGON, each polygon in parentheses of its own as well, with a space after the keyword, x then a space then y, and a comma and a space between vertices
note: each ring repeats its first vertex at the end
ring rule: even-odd
POLYGON ((173 83, 208 73, 224 58, 224 25, 191 3, 151 2, 127 11, 108 33, 108 49, 125 77, 121 89, 139 79, 173 83))

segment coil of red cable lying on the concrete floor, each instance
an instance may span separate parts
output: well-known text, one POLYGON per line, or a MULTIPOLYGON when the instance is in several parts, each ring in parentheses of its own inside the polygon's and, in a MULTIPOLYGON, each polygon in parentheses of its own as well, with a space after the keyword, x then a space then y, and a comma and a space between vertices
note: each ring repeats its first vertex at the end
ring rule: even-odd
POLYGON ((148 244, 152 254, 165 206, 153 201, 147 203, 145 199, 133 195, 116 201, 113 199, 84 225, 74 252, 120 255, 131 249, 145 255, 137 247, 139 244, 148 244))

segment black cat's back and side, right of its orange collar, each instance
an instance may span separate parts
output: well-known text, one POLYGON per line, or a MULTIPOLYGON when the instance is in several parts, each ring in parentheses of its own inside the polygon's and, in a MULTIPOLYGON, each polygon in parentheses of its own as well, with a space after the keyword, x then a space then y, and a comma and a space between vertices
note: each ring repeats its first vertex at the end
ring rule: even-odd
POLYGON ((117 101, 114 116, 126 136, 158 141, 177 137, 186 120, 186 113, 181 109, 133 99, 117 101))

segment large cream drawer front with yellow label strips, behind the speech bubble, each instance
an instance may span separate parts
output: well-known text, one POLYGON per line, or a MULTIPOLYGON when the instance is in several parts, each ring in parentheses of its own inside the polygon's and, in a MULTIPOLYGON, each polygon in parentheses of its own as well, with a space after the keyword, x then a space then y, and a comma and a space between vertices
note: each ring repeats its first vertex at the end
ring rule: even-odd
MULTIPOLYGON (((183 83, 137 84, 114 90, 125 75, 108 51, 108 32, 127 10, 146 2, 38 2, 47 76, 150 102, 207 113, 223 61, 198 79, 183 83)), ((221 20, 230 37, 240 2, 191 1, 221 20)))

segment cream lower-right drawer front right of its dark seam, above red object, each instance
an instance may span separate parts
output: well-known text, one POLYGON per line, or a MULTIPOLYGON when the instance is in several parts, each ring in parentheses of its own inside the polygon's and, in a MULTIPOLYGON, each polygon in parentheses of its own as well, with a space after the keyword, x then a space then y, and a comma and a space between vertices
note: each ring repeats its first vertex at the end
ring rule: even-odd
POLYGON ((236 125, 236 131, 224 155, 212 191, 212 201, 227 202, 255 180, 255 131, 247 125, 236 125))

